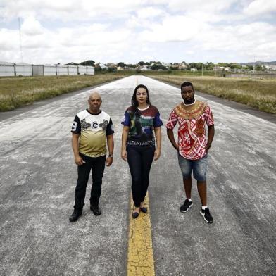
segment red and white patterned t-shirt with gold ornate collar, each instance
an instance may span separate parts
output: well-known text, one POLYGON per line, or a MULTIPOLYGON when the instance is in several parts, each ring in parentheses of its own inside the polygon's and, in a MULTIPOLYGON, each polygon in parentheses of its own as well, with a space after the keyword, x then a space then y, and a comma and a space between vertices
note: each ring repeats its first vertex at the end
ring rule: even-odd
POLYGON ((214 124, 210 106, 203 101, 196 101, 189 106, 180 103, 171 111, 166 127, 172 130, 177 122, 180 155, 189 160, 206 156, 205 123, 208 126, 214 124))

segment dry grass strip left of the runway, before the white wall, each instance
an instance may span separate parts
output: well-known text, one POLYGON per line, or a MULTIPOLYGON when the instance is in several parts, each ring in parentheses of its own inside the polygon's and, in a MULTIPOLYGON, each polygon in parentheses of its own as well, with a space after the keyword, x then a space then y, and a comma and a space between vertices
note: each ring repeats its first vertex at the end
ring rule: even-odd
POLYGON ((120 74, 49 77, 1 77, 0 111, 11 111, 34 101, 117 80, 120 74))

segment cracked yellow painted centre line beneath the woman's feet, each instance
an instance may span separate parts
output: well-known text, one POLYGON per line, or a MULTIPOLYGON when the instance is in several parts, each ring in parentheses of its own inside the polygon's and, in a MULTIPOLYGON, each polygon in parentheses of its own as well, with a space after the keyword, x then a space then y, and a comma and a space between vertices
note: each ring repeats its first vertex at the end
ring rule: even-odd
POLYGON ((148 194, 146 194, 144 203, 148 208, 148 212, 146 214, 140 212, 139 217, 136 219, 132 218, 134 203, 130 203, 130 232, 128 237, 127 276, 155 275, 148 194))

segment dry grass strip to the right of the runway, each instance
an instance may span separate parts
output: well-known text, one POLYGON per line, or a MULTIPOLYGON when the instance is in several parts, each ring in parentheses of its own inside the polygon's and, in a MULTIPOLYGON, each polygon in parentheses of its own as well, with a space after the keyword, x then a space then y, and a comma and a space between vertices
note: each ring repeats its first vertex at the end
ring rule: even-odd
POLYGON ((157 80, 177 84, 184 81, 194 84, 194 89, 230 101, 244 103, 259 111, 276 114, 276 79, 252 80, 244 78, 196 77, 192 75, 153 75, 157 80))

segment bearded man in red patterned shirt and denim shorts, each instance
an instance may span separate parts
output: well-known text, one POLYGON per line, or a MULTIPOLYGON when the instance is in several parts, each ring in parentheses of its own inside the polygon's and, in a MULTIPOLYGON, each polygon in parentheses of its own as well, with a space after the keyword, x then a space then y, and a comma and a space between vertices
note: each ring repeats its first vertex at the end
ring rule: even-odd
POLYGON ((181 95, 184 103, 180 103, 171 111, 168 119, 167 134, 172 146, 178 151, 178 162, 183 175, 186 200, 180 207, 187 212, 193 206, 191 198, 192 171, 197 180, 197 189, 201 199, 201 215, 206 222, 213 222, 207 206, 206 170, 208 150, 215 134, 213 114, 210 106, 194 99, 194 87, 191 82, 181 84, 181 95), (178 143, 175 142, 173 128, 178 122, 178 143), (205 125, 208 125, 206 139, 205 125))

